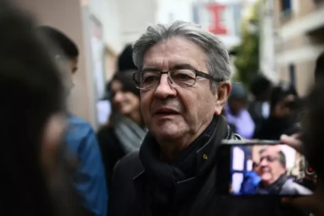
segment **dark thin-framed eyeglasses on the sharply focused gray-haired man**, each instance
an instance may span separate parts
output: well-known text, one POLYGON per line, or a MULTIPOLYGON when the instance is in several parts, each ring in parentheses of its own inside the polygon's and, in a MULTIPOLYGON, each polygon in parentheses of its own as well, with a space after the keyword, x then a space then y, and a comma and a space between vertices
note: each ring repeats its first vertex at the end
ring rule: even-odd
POLYGON ((168 74, 168 80, 171 86, 175 88, 194 86, 197 76, 216 82, 223 81, 222 79, 215 79, 212 75, 194 69, 177 69, 165 72, 140 71, 133 74, 133 80, 135 86, 139 89, 153 89, 159 86, 163 74, 168 74))

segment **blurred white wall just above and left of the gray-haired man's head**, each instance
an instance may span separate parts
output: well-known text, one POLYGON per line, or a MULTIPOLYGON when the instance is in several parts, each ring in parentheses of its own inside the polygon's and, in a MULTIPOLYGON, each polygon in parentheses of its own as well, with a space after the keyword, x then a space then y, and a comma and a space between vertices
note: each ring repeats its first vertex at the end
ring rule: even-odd
POLYGON ((90 11, 102 23, 105 44, 118 54, 156 23, 157 0, 89 0, 90 11))

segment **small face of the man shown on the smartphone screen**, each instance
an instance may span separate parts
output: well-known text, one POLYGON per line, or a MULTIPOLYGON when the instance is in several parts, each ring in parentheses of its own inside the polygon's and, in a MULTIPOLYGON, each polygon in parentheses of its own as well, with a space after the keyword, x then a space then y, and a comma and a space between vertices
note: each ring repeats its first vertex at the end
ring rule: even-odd
POLYGON ((286 169, 280 163, 280 149, 268 147, 260 155, 259 173, 265 185, 271 185, 285 173, 286 169))

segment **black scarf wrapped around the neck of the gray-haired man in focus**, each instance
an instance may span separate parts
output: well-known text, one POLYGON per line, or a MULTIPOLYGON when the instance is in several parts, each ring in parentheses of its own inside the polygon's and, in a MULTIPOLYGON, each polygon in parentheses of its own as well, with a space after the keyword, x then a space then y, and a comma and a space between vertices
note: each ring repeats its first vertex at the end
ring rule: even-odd
POLYGON ((148 199, 145 200, 146 205, 150 206, 152 215, 165 216, 171 213, 176 215, 175 209, 190 203, 189 198, 195 198, 207 180, 208 171, 216 163, 216 153, 209 154, 210 160, 204 165, 198 161, 197 154, 204 148, 209 152, 216 151, 216 143, 226 138, 227 133, 226 120, 215 115, 204 132, 187 149, 180 152, 172 164, 160 159, 161 149, 157 141, 150 132, 147 134, 140 148, 139 157, 148 178, 145 195, 148 199), (212 137, 215 138, 212 140, 212 137))

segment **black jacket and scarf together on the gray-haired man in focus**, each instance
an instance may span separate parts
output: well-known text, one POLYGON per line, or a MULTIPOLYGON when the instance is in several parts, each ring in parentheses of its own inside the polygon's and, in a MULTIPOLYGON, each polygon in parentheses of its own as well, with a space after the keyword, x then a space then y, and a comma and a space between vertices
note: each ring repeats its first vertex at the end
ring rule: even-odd
POLYGON ((247 200, 217 194, 222 139, 241 138, 222 116, 216 116, 188 149, 167 164, 160 160, 159 146, 149 132, 140 151, 115 166, 109 216, 281 216, 276 208, 279 198, 247 200))

